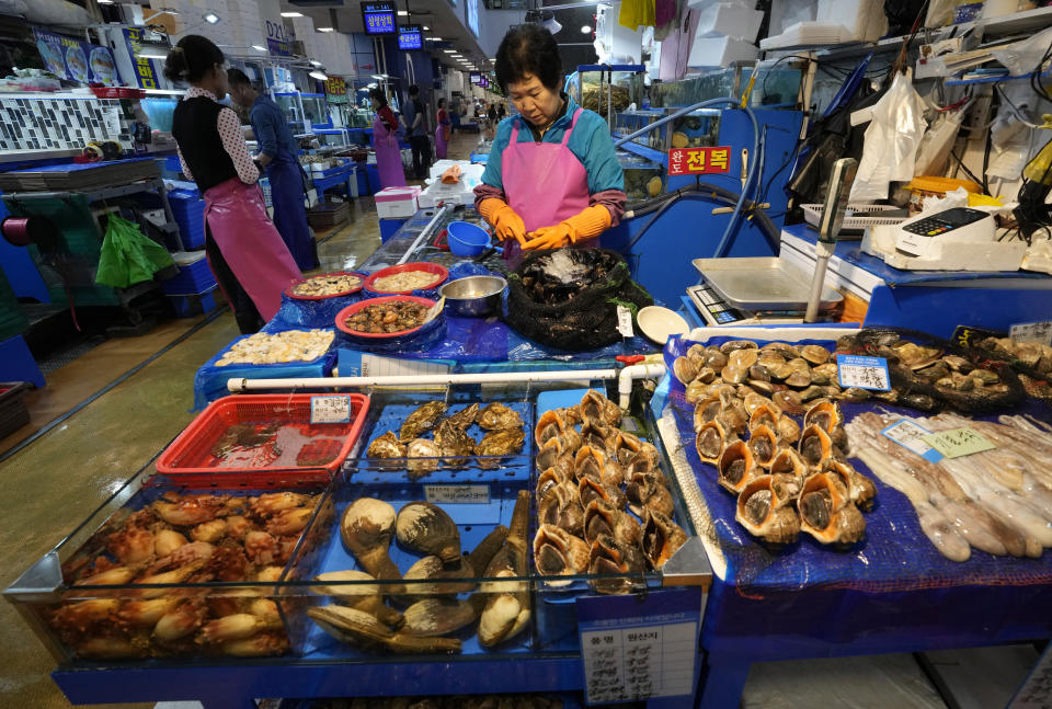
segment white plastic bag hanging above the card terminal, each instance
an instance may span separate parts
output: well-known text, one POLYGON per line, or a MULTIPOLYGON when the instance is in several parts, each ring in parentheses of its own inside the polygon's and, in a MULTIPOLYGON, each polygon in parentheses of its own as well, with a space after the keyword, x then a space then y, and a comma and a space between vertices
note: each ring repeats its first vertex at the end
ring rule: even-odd
POLYGON ((913 88, 912 76, 895 75, 891 89, 873 105, 858 176, 851 186, 851 202, 885 199, 892 181, 913 180, 926 124, 924 101, 913 88))

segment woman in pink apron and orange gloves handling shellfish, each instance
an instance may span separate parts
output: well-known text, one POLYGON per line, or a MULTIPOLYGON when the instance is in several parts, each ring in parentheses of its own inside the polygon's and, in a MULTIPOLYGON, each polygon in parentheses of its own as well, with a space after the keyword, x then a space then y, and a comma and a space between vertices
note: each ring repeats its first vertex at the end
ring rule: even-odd
POLYGON ((474 206, 516 265, 523 251, 594 248, 625 213, 625 173, 597 113, 562 93, 562 59, 547 30, 511 30, 496 81, 519 116, 501 122, 474 206))

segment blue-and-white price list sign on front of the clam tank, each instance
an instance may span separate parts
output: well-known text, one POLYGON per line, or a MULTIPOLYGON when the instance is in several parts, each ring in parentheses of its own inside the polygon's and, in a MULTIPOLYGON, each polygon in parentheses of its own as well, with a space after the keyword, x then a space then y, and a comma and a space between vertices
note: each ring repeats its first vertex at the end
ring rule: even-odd
POLYGON ((700 622, 696 595, 691 591, 665 591, 650 594, 648 602, 648 608, 639 610, 632 596, 578 601, 587 704, 679 697, 694 691, 700 622), (615 611, 616 604, 607 603, 624 598, 631 599, 637 609, 626 606, 615 611))

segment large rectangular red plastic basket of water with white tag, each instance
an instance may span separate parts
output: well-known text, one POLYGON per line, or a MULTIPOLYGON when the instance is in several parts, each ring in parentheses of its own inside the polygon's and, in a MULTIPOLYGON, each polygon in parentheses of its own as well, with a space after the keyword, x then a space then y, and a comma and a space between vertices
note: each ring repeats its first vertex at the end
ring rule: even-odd
MULTIPOLYGON (((260 487, 325 482, 347 458, 362 433, 369 398, 346 396, 347 423, 310 423, 310 401, 332 394, 266 393, 224 397, 214 401, 172 442, 157 460, 157 471, 182 484, 260 487), (275 444, 242 447, 253 459, 221 465, 215 447, 235 426, 277 426, 275 444), (282 435, 286 438, 283 441, 282 435), (302 445, 296 446, 296 443, 302 445), (331 459, 328 459, 329 456, 331 459)), ((251 434, 251 428, 247 432, 251 434)))

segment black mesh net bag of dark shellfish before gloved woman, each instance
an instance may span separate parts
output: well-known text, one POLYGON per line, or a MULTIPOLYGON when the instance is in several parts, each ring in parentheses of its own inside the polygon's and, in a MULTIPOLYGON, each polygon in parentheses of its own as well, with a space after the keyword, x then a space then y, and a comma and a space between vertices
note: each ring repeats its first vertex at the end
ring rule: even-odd
POLYGON ((628 273, 628 264, 607 249, 556 249, 531 254, 507 279, 504 321, 549 347, 584 352, 621 340, 617 306, 632 317, 653 305, 628 273))

